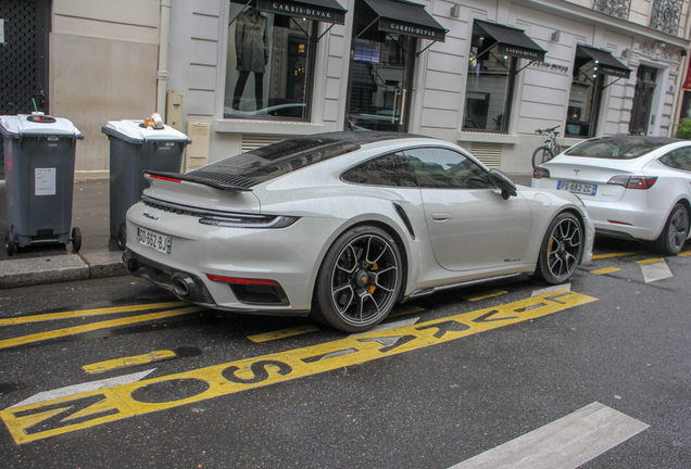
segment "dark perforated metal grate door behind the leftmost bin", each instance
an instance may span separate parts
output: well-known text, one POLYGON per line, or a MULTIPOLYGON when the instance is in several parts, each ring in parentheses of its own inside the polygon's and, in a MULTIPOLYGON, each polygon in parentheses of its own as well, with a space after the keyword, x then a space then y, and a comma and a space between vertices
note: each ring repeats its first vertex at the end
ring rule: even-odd
MULTIPOLYGON (((0 115, 48 111, 50 1, 0 0, 4 45, 0 46, 0 115)), ((0 145, 0 179, 4 154, 0 145)))

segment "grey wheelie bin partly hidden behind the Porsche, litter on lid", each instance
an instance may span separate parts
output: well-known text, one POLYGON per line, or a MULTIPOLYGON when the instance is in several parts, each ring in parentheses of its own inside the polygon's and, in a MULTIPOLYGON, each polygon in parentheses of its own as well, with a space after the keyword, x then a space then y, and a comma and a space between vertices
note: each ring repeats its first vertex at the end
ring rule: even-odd
POLYGON ((111 238, 125 249, 125 216, 149 187, 145 170, 179 173, 190 139, 164 125, 147 127, 143 121, 115 121, 101 127, 111 144, 111 238))

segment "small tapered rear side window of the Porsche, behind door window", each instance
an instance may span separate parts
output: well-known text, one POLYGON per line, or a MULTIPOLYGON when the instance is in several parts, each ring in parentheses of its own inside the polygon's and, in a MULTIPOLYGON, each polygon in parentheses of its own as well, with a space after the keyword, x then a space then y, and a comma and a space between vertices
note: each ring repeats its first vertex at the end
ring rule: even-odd
POLYGON ((417 186, 413 168, 403 153, 389 153, 369 160, 343 173, 341 179, 367 186, 417 186))

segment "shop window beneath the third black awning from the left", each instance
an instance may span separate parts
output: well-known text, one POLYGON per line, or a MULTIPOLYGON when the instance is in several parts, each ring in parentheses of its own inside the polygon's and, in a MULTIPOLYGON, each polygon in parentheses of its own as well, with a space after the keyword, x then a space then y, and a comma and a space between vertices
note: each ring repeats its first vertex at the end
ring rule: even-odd
POLYGON ((500 52, 500 43, 477 26, 468 62, 463 129, 504 132, 517 60, 500 52))

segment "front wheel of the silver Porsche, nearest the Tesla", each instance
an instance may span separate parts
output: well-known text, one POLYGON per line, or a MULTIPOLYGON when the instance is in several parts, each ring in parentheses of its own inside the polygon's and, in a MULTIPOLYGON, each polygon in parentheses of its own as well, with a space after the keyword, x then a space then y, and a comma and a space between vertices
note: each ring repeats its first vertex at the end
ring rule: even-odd
POLYGON ((583 250, 583 229, 576 216, 561 213, 548 229, 535 271, 538 280, 563 283, 576 271, 583 250))

